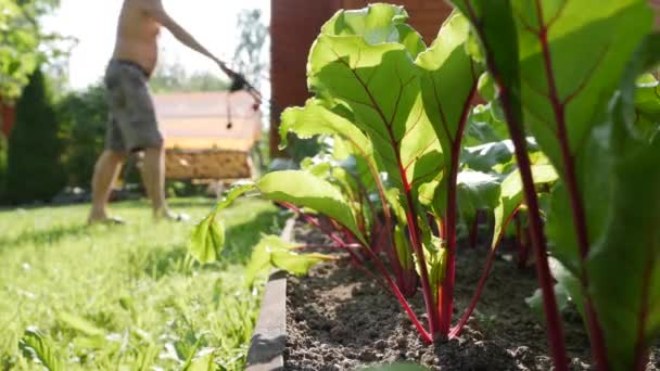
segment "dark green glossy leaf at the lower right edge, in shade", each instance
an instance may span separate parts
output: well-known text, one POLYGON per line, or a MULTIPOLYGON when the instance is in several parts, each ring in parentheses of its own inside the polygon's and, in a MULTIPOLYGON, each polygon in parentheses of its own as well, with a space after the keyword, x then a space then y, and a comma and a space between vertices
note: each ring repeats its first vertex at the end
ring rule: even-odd
MULTIPOLYGON (((634 369, 640 351, 660 336, 660 141, 634 127, 635 81, 660 61, 655 42, 647 38, 631 57, 610 110, 596 120, 575 164, 591 242, 588 294, 612 370, 634 369)), ((566 187, 559 187, 547 231, 566 276, 578 282, 567 289, 582 297, 571 207, 566 187)))

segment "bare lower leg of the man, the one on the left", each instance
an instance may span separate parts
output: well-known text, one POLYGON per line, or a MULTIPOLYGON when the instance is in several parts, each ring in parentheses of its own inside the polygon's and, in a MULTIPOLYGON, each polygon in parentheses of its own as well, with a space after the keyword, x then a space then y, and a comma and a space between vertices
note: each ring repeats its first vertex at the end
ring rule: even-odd
POLYGON ((112 191, 112 184, 117 179, 123 163, 124 155, 112 150, 105 150, 99 156, 94 166, 94 175, 91 179, 92 206, 88 218, 90 223, 109 219, 105 205, 112 191))

